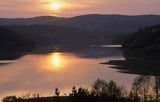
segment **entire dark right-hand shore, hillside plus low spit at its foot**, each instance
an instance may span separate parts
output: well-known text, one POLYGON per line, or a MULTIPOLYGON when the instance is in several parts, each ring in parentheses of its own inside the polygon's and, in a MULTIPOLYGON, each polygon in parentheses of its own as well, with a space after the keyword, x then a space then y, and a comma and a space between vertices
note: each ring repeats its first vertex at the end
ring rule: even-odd
POLYGON ((160 75, 160 25, 141 29, 122 44, 126 60, 109 61, 123 73, 160 75))

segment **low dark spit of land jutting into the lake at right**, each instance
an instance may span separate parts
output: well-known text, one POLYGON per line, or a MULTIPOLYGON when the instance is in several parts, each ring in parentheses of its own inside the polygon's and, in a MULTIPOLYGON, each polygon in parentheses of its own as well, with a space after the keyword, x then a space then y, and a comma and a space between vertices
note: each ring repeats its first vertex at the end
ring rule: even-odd
POLYGON ((138 74, 138 75, 160 75, 160 63, 147 62, 138 60, 111 60, 106 63, 111 65, 111 68, 118 69, 119 72, 138 74))

